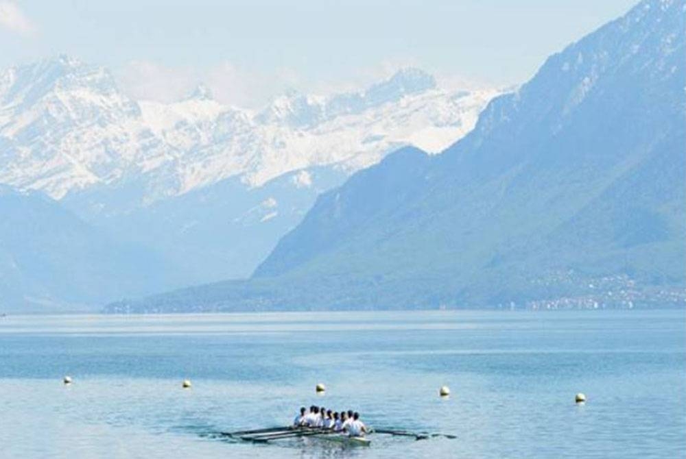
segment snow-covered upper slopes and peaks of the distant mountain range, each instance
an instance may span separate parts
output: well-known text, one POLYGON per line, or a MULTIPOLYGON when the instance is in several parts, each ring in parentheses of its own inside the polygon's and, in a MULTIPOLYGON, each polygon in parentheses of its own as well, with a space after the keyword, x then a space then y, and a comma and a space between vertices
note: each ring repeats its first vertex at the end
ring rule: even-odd
POLYGON ((441 151, 496 92, 444 90, 405 69, 366 90, 292 93, 255 112, 202 86, 176 103, 134 101, 106 69, 60 56, 0 73, 0 183, 61 199, 134 181, 148 204, 233 176, 261 186, 311 166, 353 172, 401 145, 441 151))

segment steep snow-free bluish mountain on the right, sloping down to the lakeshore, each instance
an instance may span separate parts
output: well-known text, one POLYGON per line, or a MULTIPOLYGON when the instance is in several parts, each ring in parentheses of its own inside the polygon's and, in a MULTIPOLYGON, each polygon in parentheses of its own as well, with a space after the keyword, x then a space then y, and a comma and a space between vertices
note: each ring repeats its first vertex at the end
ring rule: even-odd
POLYGON ((107 310, 683 306, 685 16, 683 0, 641 1, 442 154, 355 173, 250 280, 107 310))

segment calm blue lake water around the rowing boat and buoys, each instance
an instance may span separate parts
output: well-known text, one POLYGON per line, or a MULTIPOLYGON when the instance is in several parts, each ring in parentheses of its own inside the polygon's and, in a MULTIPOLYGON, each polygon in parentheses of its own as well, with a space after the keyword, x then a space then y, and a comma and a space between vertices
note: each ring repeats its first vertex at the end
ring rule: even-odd
POLYGON ((685 323, 635 310, 4 317, 0 456, 681 458, 685 323), (314 403, 458 438, 219 436, 314 403))

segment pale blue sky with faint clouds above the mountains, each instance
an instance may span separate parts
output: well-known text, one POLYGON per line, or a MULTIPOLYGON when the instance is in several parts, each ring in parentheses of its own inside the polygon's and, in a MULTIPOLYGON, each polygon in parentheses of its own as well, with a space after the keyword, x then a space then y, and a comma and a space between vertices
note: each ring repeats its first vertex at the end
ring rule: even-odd
POLYGON ((59 54, 137 99, 202 82, 260 106, 286 89, 359 88, 403 66, 450 86, 521 84, 635 0, 0 0, 0 68, 59 54))

